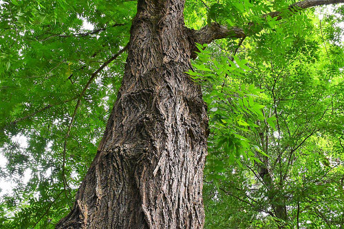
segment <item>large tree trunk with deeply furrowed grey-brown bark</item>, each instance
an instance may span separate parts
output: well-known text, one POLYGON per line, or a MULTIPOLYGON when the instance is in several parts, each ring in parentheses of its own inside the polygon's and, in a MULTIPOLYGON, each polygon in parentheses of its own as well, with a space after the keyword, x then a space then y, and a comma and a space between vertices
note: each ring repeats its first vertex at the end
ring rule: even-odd
POLYGON ((202 228, 208 117, 184 0, 139 0, 118 100, 72 211, 56 228, 202 228))

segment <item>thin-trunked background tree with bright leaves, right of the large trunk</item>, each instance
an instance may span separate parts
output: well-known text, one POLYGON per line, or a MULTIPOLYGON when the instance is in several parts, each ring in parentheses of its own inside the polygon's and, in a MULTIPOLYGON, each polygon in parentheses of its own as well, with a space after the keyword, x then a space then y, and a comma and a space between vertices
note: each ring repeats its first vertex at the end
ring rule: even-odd
MULTIPOLYGON (((288 26, 283 29, 290 30, 288 26)), ((268 156, 256 154, 261 162, 250 163, 243 158, 243 167, 228 166, 228 154, 222 152, 222 147, 209 147, 207 161, 213 165, 205 172, 204 197, 206 212, 214 210, 214 213, 208 214, 211 219, 208 219, 207 228, 235 228, 238 221, 240 228, 297 228, 297 225, 336 228, 343 224, 344 193, 338 189, 343 184, 343 148, 340 144, 343 133, 340 121, 343 119, 343 73, 340 70, 343 51, 337 56, 338 49, 342 48, 334 43, 326 43, 326 49, 319 48, 323 44, 322 36, 319 37, 321 33, 316 27, 313 29, 306 40, 297 37, 297 43, 291 43, 283 51, 274 47, 273 38, 265 40, 272 43, 268 49, 261 47, 257 50, 259 55, 250 55, 250 67, 255 69, 250 76, 233 76, 243 80, 243 85, 259 86, 264 92, 259 102, 265 108, 262 109, 262 119, 252 123, 249 112, 255 101, 250 95, 236 95, 238 100, 233 99, 231 104, 248 110, 244 112, 244 121, 250 129, 230 129, 237 135, 246 136, 246 142, 264 150, 268 156), (319 38, 321 40, 317 42, 319 38), (261 55, 261 52, 268 53, 261 55), (230 210, 226 208, 228 205, 230 210), (214 223, 217 214, 224 217, 214 223)), ((268 32, 267 36, 270 36, 268 32)), ((245 56, 245 49, 241 49, 240 54, 245 56)), ((244 90, 248 91, 248 88, 244 90)), ((235 95, 230 97, 235 98, 235 95)), ((219 101, 213 106, 222 111, 211 112, 211 125, 222 133, 211 134, 210 141, 229 142, 235 145, 235 150, 239 149, 244 145, 243 141, 237 141, 234 134, 227 134, 219 125, 230 122, 226 117, 229 109, 223 109, 228 105, 219 101), (218 115, 222 115, 221 119, 214 120, 218 115), (214 141, 212 138, 217 136, 227 139, 214 141)))

